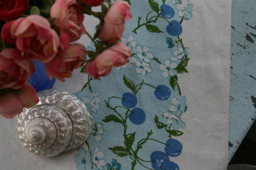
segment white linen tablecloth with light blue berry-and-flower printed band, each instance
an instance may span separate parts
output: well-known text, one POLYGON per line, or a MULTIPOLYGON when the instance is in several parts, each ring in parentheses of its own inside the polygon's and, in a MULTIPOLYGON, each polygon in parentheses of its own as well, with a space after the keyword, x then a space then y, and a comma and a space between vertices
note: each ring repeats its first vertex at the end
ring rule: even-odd
MULTIPOLYGON (((227 168, 231 0, 130 1, 122 38, 132 49, 128 64, 101 80, 76 71, 53 87, 87 105, 87 142, 41 158, 18 142, 15 120, 1 118, 1 169, 227 168)), ((93 33, 96 21, 84 24, 93 33)), ((86 37, 80 42, 94 49, 86 37)))

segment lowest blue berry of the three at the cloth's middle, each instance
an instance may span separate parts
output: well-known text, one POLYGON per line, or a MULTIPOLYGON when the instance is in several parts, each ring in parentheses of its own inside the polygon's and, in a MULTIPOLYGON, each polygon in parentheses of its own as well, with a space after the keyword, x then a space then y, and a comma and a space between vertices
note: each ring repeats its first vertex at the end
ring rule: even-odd
POLYGON ((145 112, 141 108, 134 108, 129 114, 130 121, 135 125, 141 125, 146 120, 145 112))

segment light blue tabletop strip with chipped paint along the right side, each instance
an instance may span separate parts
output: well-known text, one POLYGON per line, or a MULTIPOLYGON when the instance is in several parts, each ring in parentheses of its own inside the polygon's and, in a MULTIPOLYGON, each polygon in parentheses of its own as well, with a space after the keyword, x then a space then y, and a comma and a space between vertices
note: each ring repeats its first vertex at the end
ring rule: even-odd
POLYGON ((256 119, 255 6, 255 0, 232 0, 229 161, 256 119))

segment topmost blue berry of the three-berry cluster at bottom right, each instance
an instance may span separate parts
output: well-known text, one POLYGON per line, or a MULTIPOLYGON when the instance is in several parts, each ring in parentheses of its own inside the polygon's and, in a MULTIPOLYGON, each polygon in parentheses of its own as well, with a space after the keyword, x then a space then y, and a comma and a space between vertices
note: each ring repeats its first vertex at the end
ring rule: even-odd
POLYGON ((168 156, 179 156, 182 152, 182 144, 177 139, 169 139, 166 141, 164 151, 168 156))

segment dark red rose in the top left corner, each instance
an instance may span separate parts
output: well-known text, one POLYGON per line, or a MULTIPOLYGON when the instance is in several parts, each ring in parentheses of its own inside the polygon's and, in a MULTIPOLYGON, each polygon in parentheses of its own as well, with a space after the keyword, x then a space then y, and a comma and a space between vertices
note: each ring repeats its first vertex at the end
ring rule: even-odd
POLYGON ((0 20, 14 20, 29 6, 29 0, 0 0, 0 20))

